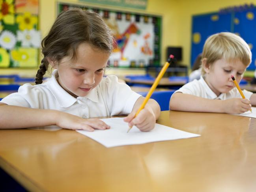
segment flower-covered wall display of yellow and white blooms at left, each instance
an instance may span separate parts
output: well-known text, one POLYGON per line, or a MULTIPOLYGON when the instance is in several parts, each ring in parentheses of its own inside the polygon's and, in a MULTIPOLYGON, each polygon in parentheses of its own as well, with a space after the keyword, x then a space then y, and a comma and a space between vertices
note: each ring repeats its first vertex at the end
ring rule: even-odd
POLYGON ((38 66, 38 1, 0 1, 0 68, 38 66))

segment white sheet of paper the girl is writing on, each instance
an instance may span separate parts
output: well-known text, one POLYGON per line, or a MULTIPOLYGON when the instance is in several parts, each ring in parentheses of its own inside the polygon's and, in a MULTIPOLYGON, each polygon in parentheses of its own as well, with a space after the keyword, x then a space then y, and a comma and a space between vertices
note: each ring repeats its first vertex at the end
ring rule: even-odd
POLYGON ((77 130, 77 132, 92 138, 105 147, 145 144, 149 142, 176 140, 200 136, 198 134, 193 134, 174 129, 172 127, 160 125, 158 123, 156 123, 155 128, 149 132, 141 132, 136 126, 133 126, 129 133, 127 133, 129 126, 128 123, 123 121, 123 118, 114 117, 101 120, 110 125, 111 128, 107 130, 94 130, 93 132, 77 130))

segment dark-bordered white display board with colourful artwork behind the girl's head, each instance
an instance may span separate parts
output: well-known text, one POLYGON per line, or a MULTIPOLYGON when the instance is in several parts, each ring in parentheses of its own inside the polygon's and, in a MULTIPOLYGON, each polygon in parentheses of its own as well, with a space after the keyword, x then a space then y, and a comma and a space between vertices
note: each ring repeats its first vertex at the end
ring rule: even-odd
POLYGON ((160 65, 161 16, 62 2, 58 2, 58 13, 78 7, 99 13, 112 30, 118 46, 110 55, 110 66, 146 67, 148 65, 160 65))

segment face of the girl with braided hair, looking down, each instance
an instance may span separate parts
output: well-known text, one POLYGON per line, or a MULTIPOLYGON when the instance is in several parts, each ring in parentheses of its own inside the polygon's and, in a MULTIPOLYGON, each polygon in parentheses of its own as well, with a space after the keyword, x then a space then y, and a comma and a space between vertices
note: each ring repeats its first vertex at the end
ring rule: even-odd
POLYGON ((57 81, 65 91, 73 97, 84 97, 101 82, 109 54, 88 43, 81 43, 76 54, 76 61, 67 56, 53 67, 58 69, 57 81))

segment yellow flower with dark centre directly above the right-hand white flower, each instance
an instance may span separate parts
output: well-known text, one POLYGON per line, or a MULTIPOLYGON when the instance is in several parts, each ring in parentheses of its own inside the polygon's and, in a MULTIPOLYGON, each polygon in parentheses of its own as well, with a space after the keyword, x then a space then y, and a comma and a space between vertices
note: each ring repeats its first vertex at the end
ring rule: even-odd
POLYGON ((22 15, 18 15, 16 21, 19 24, 20 30, 31 30, 37 24, 37 17, 31 15, 29 12, 25 12, 22 15))

